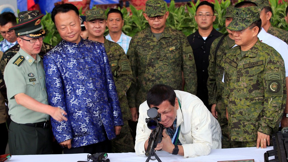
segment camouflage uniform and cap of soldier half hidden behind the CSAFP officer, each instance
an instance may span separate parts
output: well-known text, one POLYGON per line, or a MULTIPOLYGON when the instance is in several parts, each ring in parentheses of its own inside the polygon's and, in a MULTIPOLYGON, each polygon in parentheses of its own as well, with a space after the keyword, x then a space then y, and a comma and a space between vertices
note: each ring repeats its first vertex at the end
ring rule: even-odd
MULTIPOLYGON (((226 9, 226 17, 233 17, 232 9, 233 6, 229 6, 226 9)), ((224 88, 224 83, 222 82, 224 68, 221 66, 221 61, 223 57, 226 56, 228 49, 232 48, 232 46, 228 45, 227 39, 229 39, 229 35, 226 35, 220 43, 220 46, 216 53, 215 59, 215 50, 218 42, 220 41, 221 37, 216 38, 213 43, 211 44, 210 55, 209 55, 209 66, 208 66, 208 81, 207 81, 207 88, 208 88, 208 104, 216 104, 216 111, 218 113, 218 122, 221 127, 222 131, 222 149, 230 148, 230 141, 228 136, 228 120, 226 119, 226 106, 223 103, 222 92, 224 88), (215 62, 216 61, 216 62, 215 62)))

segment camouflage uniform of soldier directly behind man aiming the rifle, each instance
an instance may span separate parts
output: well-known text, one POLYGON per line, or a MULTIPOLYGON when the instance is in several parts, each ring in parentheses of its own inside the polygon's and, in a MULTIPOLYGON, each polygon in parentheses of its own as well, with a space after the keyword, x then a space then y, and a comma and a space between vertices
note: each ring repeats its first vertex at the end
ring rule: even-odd
POLYGON ((131 39, 127 55, 133 77, 137 78, 137 84, 132 84, 127 94, 130 107, 139 107, 155 84, 182 90, 182 71, 187 91, 196 94, 193 52, 182 32, 166 27, 157 41, 151 29, 145 29, 131 39))

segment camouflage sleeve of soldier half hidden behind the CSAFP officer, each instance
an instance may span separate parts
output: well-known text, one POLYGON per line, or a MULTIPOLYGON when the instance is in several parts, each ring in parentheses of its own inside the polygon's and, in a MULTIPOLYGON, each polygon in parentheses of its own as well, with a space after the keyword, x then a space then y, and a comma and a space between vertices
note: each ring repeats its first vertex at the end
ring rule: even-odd
POLYGON ((216 74, 215 74, 215 48, 218 44, 219 39, 215 39, 211 44, 210 55, 209 55, 209 66, 208 66, 208 80, 207 80, 207 88, 208 88, 208 102, 209 104, 215 104, 215 90, 216 90, 216 74))

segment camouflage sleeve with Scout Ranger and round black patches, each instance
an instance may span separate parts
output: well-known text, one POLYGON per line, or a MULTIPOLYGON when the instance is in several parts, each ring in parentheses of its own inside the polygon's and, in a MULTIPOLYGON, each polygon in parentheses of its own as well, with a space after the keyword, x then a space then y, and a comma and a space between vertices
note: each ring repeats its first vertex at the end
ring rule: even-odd
POLYGON ((284 61, 278 52, 274 51, 268 58, 263 75, 265 101, 258 131, 270 135, 279 126, 286 103, 284 61))

